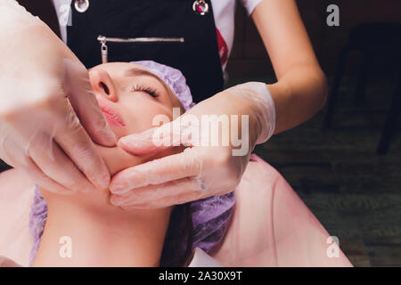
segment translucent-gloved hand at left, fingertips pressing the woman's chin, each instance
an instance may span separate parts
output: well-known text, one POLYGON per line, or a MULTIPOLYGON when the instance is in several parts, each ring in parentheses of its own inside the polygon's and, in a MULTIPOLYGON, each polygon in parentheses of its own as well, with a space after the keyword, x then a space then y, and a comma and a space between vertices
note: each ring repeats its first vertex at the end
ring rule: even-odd
POLYGON ((116 138, 85 66, 11 0, 0 0, 0 51, 0 159, 48 191, 106 189, 110 173, 91 137, 106 146, 116 138))

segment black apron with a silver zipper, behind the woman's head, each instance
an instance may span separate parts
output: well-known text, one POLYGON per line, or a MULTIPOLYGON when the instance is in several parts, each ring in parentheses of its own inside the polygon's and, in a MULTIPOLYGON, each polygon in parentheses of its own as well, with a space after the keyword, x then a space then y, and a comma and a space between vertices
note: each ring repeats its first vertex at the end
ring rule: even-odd
POLYGON ((111 43, 109 62, 151 60, 179 69, 201 102, 223 90, 217 32, 209 0, 205 15, 193 12, 194 0, 92 0, 86 12, 72 1, 67 44, 86 68, 102 63, 104 37, 184 37, 184 43, 111 43))

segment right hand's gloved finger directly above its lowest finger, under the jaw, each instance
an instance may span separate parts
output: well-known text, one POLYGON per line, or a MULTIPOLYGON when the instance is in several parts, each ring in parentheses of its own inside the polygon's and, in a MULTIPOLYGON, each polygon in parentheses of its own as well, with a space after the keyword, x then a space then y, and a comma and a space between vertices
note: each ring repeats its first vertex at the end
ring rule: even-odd
POLYGON ((184 177, 196 177, 201 172, 201 158, 191 148, 161 159, 130 167, 114 175, 110 191, 123 194, 149 184, 166 183, 184 177))

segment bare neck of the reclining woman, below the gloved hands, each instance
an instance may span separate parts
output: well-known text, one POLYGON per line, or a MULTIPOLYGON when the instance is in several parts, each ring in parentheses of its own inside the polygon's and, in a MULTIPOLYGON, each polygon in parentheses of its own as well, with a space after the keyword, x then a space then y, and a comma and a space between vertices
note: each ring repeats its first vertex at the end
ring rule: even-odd
POLYGON ((33 266, 160 265, 171 208, 125 211, 108 203, 98 208, 82 198, 88 194, 42 193, 48 213, 33 266))

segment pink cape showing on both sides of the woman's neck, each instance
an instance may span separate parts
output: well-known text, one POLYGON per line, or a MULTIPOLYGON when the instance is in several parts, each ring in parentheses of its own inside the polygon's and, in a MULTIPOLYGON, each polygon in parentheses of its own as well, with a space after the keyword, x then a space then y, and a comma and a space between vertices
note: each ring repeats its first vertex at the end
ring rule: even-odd
MULTIPOLYGON (((274 167, 252 155, 225 239, 210 253, 224 266, 352 266, 274 167)), ((0 266, 27 266, 35 185, 15 169, 0 174, 0 266)))

